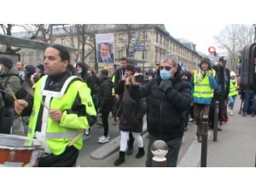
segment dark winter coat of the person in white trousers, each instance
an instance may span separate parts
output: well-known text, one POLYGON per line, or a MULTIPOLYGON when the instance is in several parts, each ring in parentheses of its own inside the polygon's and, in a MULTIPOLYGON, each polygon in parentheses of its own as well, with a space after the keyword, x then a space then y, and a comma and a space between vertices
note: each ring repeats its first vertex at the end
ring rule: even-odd
POLYGON ((142 98, 139 101, 133 100, 129 95, 129 90, 125 89, 117 112, 117 117, 120 119, 119 129, 121 131, 142 132, 143 116, 146 110, 146 99, 142 98))

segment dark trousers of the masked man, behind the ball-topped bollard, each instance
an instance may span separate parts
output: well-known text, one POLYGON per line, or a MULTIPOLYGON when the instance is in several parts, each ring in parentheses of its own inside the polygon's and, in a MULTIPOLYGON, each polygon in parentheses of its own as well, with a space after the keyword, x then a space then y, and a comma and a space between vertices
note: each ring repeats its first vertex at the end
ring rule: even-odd
MULTIPOLYGON (((152 158, 153 154, 151 152, 151 145, 154 143, 155 140, 159 140, 160 138, 149 136, 148 141, 148 154, 147 154, 147 160, 146 160, 146 166, 151 167, 152 166, 152 158)), ((179 153, 179 149, 181 147, 183 141, 183 137, 174 138, 166 144, 168 145, 168 153, 166 154, 166 166, 168 167, 175 167, 177 166, 177 157, 179 153)))

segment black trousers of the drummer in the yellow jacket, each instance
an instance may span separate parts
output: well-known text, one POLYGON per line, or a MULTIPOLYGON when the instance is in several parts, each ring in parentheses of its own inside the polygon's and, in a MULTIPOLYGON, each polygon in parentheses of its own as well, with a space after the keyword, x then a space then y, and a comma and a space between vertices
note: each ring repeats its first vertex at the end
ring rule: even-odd
POLYGON ((60 155, 49 154, 39 158, 38 167, 72 167, 75 166, 78 157, 79 149, 71 146, 60 155))

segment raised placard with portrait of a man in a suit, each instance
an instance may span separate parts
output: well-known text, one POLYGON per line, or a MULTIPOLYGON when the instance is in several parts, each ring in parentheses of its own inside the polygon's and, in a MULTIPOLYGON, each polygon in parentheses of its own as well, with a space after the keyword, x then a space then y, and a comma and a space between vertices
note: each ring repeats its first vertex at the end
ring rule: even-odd
POLYGON ((96 34, 98 63, 114 63, 113 33, 96 34))

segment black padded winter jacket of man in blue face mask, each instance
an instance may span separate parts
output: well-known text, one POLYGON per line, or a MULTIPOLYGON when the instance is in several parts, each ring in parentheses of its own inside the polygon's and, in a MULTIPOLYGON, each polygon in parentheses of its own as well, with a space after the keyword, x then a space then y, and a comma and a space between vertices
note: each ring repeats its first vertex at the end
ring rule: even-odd
POLYGON ((139 99, 147 96, 147 124, 150 135, 169 141, 183 137, 182 114, 188 110, 192 102, 191 86, 181 79, 181 69, 178 68, 172 79, 172 88, 160 90, 160 76, 151 79, 142 87, 131 85, 131 98, 139 99))

